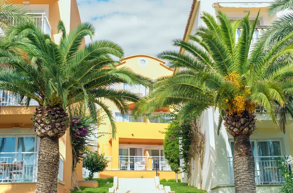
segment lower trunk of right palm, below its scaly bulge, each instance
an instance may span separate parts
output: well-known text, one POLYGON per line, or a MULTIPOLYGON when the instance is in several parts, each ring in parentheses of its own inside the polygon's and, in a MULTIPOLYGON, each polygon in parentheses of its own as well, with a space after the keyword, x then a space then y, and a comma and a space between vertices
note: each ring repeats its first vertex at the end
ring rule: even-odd
POLYGON ((250 135, 235 135, 234 142, 235 193, 256 193, 250 135))

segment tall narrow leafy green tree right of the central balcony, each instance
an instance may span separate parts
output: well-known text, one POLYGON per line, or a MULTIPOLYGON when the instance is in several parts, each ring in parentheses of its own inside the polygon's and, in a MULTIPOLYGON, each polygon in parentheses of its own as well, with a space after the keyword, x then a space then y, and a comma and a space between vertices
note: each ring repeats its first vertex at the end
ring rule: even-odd
POLYGON ((171 170, 176 174, 176 182, 178 182, 178 173, 180 172, 179 138, 176 137, 178 128, 180 128, 179 121, 172 122, 167 128, 164 141, 165 157, 171 170))

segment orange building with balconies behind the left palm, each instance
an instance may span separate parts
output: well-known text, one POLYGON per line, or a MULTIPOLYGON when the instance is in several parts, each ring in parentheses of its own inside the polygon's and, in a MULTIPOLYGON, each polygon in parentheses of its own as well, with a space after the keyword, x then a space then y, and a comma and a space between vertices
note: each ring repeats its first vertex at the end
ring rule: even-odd
MULTIPOLYGON (((57 24, 63 20, 69 32, 81 23, 76 0, 11 0, 31 10, 34 22, 42 31, 58 43, 57 24)), ((28 108, 18 103, 18 96, 0 90, 0 193, 34 193, 37 181, 38 151, 40 139, 31 129, 36 104, 28 108), (23 161, 23 167, 15 174, 7 172, 9 164, 23 161), (6 172, 3 172, 7 170, 6 172)), ((59 139, 60 167, 59 193, 70 193, 72 149, 69 132, 59 139)))

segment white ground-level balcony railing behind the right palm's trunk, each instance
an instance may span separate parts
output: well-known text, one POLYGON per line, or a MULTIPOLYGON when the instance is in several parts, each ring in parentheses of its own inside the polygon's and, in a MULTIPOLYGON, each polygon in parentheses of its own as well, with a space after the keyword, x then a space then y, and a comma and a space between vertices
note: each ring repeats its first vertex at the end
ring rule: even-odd
MULTIPOLYGON (((283 184, 284 178, 280 175, 276 160, 284 156, 255 156, 255 184, 283 184)), ((291 160, 292 157, 289 157, 291 160)), ((292 168, 292 161, 288 162, 292 168)), ((228 157, 230 184, 234 185, 233 157, 228 157)))

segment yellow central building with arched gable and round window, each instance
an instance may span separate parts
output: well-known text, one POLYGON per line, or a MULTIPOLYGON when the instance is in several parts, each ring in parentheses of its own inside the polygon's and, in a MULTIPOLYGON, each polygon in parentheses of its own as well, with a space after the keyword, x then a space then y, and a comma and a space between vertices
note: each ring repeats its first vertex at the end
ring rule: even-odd
MULTIPOLYGON (((161 76, 173 74, 173 69, 168 68, 165 62, 146 55, 136 55, 123 58, 120 67, 128 67, 135 73, 156 79, 161 76)), ((129 90, 139 94, 141 97, 148 93, 148 89, 135 85, 120 84, 116 89, 129 90)), ((160 178, 174 179, 175 173, 170 170, 164 157, 163 140, 165 135, 159 131, 165 131, 167 123, 162 123, 164 116, 149 118, 147 123, 143 118, 134 120, 130 116, 121 116, 119 110, 109 101, 105 103, 112 110, 117 125, 116 138, 112 134, 98 138, 98 151, 105 154, 108 160, 108 168, 99 174, 101 178, 107 177, 129 177, 129 178, 152 178, 156 172, 160 178)), ((130 110, 134 103, 129 104, 130 110)), ((160 109, 153 113, 162 114, 168 109, 160 109)), ((166 117, 165 117, 166 118, 166 117)), ((109 119, 104 120, 105 125, 99 126, 99 132, 111 133, 112 129, 109 119)), ((84 170, 86 176, 86 170, 84 170)))

